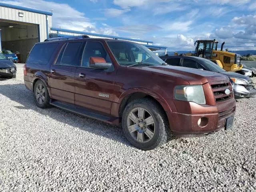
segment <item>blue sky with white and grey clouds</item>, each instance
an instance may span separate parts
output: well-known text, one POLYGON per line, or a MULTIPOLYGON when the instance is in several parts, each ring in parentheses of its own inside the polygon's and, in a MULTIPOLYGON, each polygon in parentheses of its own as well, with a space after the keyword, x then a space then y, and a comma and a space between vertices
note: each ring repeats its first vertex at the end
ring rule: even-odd
POLYGON ((256 50, 256 0, 0 2, 53 9, 53 27, 149 40, 172 51, 194 50, 196 40, 214 38, 230 50, 256 50))

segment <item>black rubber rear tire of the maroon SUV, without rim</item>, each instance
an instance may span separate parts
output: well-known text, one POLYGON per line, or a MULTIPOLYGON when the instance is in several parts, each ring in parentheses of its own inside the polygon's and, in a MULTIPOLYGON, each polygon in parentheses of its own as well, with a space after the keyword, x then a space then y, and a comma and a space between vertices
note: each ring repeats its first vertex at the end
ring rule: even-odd
POLYGON ((48 94, 48 90, 47 90, 47 87, 46 85, 44 84, 44 82, 42 82, 42 80, 38 80, 36 82, 36 84, 34 85, 34 101, 36 102, 36 106, 40 107, 40 108, 50 108, 51 105, 50 105, 50 96, 48 94), (44 100, 43 102, 41 102, 41 100, 38 100, 36 98, 36 96, 38 95, 38 91, 37 91, 37 88, 39 86, 43 86, 44 88, 44 92, 42 92, 42 96, 44 96, 44 100))

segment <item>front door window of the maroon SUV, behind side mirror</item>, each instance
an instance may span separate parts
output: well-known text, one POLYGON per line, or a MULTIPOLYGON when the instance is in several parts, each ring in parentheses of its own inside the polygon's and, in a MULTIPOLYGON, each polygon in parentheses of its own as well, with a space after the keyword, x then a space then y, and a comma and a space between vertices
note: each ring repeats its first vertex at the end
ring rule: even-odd
POLYGON ((90 57, 102 57, 106 60, 107 63, 111 63, 109 55, 100 42, 86 43, 82 59, 82 66, 89 67, 90 57))

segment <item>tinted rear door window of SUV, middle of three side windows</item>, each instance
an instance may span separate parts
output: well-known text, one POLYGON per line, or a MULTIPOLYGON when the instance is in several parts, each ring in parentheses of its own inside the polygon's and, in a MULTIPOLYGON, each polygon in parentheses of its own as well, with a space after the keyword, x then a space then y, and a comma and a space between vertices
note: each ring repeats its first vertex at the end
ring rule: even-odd
POLYGON ((78 66, 82 42, 70 42, 60 52, 56 64, 78 66))

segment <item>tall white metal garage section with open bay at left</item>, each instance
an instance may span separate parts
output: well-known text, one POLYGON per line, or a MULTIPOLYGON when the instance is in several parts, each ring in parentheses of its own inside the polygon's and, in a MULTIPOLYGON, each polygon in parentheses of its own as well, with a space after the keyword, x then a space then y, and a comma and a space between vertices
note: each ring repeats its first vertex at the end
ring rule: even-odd
POLYGON ((20 52, 25 62, 37 42, 48 38, 52 13, 0 3, 0 50, 20 52))

